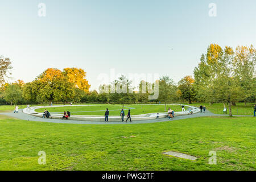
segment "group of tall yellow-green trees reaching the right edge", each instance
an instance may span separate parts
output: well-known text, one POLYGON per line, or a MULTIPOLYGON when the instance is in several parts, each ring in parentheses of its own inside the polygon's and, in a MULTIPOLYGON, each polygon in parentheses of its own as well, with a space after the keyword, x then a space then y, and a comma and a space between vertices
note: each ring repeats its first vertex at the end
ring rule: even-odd
POLYGON ((256 100, 256 51, 253 46, 238 46, 235 50, 210 44, 194 70, 196 99, 222 102, 231 106, 238 102, 256 100))

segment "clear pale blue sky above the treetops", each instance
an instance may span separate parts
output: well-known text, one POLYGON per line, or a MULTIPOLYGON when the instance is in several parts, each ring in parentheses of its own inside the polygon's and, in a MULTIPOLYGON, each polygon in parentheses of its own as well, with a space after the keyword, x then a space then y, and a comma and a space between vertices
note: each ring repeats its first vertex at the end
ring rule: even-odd
POLYGON ((177 82, 193 75, 210 43, 256 43, 255 0, 5 0, 0 22, 0 55, 14 67, 10 81, 32 81, 46 68, 78 67, 91 90, 112 68, 177 82), (38 16, 40 2, 46 17, 38 16), (209 3, 216 3, 216 17, 208 15, 209 3))

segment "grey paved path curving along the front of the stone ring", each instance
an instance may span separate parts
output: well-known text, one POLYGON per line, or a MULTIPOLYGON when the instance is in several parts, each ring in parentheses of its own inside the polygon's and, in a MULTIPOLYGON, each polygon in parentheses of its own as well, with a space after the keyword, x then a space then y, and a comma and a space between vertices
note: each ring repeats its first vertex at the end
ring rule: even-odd
MULTIPOLYGON (((51 123, 68 123, 68 124, 93 124, 93 125, 127 125, 127 124, 139 124, 139 123, 156 123, 156 122, 166 122, 166 121, 170 121, 168 118, 160 118, 160 119, 148 119, 148 120, 143 120, 143 121, 133 121, 133 115, 131 115, 131 119, 133 122, 102 122, 102 121, 76 121, 76 120, 66 120, 66 119, 46 119, 46 118, 39 118, 39 117, 34 117, 32 115, 28 115, 23 113, 21 110, 19 110, 18 114, 14 114, 13 112, 11 113, 0 113, 0 114, 4 114, 4 115, 8 115, 10 117, 14 117, 14 118, 18 118, 18 119, 22 119, 22 120, 27 120, 27 121, 37 121, 37 122, 51 122, 51 123)), ((213 114, 210 111, 206 110, 205 113, 196 113, 196 114, 192 114, 192 115, 181 115, 178 117, 175 117, 172 121, 176 121, 176 120, 180 120, 180 119, 187 119, 187 118, 197 118, 197 117, 205 117, 205 116, 227 116, 226 114, 213 114)), ((248 115, 234 115, 234 116, 243 116, 243 117, 251 117, 248 115)), ((120 118, 121 120, 121 118, 120 118)))

